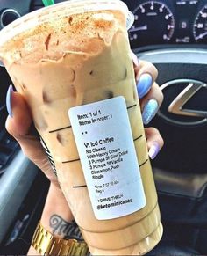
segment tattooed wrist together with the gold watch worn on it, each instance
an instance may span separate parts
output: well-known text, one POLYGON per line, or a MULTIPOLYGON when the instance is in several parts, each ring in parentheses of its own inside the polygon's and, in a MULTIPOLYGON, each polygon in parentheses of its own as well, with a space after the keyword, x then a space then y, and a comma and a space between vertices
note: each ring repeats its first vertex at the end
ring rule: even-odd
POLYGON ((75 248, 75 254, 66 255, 85 256, 89 253, 88 247, 83 242, 81 231, 74 221, 72 212, 68 207, 68 203, 62 194, 61 189, 53 184, 51 184, 49 188, 46 204, 39 225, 34 233, 32 246, 28 255, 34 255, 34 253, 36 253, 35 255, 38 255, 37 253, 43 255, 42 252, 45 250, 44 248, 47 248, 47 251, 45 251, 46 253, 49 252, 48 250, 52 250, 50 239, 48 240, 48 237, 53 240, 56 248, 65 248, 64 250, 69 250, 68 248, 70 247, 75 248), (45 241, 42 245, 39 243, 41 240, 45 241))

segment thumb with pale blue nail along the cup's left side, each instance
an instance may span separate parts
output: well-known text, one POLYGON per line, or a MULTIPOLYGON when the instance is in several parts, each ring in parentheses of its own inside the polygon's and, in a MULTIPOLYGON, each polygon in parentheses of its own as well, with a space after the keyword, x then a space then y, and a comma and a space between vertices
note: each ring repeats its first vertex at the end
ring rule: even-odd
POLYGON ((32 114, 29 107, 23 96, 12 91, 11 87, 7 92, 7 109, 10 113, 5 123, 7 131, 18 141, 25 156, 59 187, 46 152, 39 141, 39 135, 33 133, 32 114))

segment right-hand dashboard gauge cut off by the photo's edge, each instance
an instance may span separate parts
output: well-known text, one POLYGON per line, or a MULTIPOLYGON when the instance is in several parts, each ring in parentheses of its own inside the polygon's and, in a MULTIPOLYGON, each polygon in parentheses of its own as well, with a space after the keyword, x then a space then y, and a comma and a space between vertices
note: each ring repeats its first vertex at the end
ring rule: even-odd
POLYGON ((197 42, 207 43, 207 5, 196 16, 193 34, 197 42))

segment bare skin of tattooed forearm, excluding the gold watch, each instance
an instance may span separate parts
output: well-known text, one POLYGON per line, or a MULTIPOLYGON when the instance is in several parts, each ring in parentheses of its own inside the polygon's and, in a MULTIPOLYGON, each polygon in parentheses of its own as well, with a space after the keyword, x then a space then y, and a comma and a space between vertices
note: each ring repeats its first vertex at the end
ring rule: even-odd
MULTIPOLYGON (((61 189, 53 184, 49 188, 40 223, 56 238, 82 239, 81 232, 74 221, 61 189)), ((38 255, 32 246, 27 254, 38 255)))

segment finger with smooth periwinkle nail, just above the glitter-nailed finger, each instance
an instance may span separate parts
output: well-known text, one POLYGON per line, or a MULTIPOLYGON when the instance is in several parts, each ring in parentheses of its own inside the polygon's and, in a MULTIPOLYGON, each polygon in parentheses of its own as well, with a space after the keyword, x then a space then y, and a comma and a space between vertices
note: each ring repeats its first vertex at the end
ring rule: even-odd
POLYGON ((140 61, 134 68, 139 99, 142 99, 150 91, 158 71, 150 62, 140 61))

